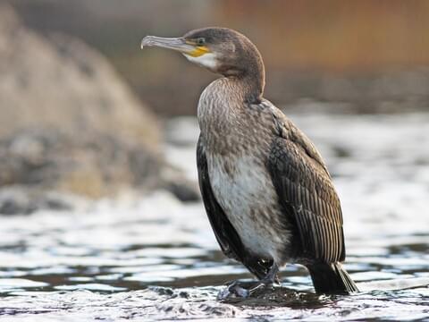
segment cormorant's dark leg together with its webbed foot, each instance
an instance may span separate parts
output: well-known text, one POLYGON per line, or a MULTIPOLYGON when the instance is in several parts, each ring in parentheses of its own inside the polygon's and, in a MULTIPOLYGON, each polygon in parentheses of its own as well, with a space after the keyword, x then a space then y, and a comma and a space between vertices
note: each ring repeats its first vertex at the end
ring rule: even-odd
POLYGON ((271 286, 274 283, 276 283, 278 272, 279 272, 279 267, 277 266, 277 264, 273 263, 273 266, 270 268, 270 270, 265 275, 265 277, 260 281, 258 281, 256 285, 254 284, 254 282, 246 283, 246 282, 234 281, 231 284, 229 284, 226 289, 219 292, 219 294, 217 295, 217 299, 225 300, 231 295, 235 297, 240 297, 240 298, 247 298, 250 295, 252 295, 252 293, 263 290, 265 289, 265 287, 271 286))

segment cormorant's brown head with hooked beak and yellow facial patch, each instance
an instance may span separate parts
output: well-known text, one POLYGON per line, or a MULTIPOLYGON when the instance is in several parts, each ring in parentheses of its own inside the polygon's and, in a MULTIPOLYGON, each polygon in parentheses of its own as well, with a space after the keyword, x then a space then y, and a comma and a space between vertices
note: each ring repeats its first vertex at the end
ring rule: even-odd
POLYGON ((191 30, 181 38, 143 38, 141 48, 151 46, 178 51, 190 62, 223 76, 258 72, 264 78, 264 64, 257 47, 240 32, 228 28, 191 30))

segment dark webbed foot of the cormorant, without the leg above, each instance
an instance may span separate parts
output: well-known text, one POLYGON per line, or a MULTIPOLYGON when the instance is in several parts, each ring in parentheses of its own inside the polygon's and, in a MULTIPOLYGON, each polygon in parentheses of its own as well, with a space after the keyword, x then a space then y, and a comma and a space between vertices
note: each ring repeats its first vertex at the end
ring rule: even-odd
POLYGON ((217 294, 217 300, 247 299, 254 294, 265 291, 267 288, 272 288, 272 286, 272 283, 266 283, 265 280, 257 282, 234 281, 231 284, 227 284, 227 287, 217 294))

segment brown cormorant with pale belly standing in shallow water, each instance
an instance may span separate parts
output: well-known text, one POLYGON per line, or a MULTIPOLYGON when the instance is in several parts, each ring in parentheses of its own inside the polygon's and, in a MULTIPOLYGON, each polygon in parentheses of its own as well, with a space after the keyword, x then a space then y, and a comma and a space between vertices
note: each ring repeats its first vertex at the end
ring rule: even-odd
MULTIPOLYGON (((345 258, 340 199, 324 160, 307 136, 263 97, 257 47, 227 28, 181 38, 143 38, 141 47, 180 52, 223 77, 198 102, 198 179, 223 253, 257 276, 277 281, 287 262, 307 267, 315 292, 356 292, 345 258)), ((230 285, 241 295, 248 290, 230 285)))

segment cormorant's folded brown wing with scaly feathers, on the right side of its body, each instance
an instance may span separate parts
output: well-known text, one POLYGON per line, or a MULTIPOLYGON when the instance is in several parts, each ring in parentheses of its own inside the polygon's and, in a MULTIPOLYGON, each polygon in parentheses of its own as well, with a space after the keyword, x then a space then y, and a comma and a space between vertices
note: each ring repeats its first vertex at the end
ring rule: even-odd
POLYGON ((341 205, 331 177, 311 141, 281 117, 275 117, 282 131, 273 140, 267 168, 299 240, 297 256, 309 261, 342 261, 341 205))

